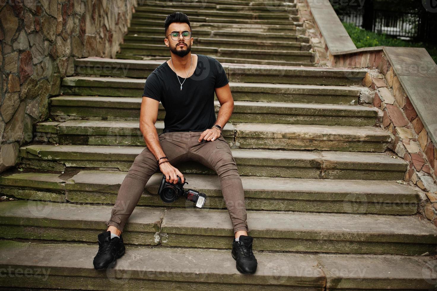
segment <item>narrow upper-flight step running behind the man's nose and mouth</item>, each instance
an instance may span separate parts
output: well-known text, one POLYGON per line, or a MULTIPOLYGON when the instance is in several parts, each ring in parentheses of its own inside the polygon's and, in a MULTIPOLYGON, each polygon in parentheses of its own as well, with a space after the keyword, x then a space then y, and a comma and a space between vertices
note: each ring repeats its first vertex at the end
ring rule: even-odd
MULTIPOLYGON (((270 49, 270 50, 291 50, 291 51, 301 51, 300 42, 290 42, 290 41, 264 41, 262 43, 253 43, 253 40, 246 39, 219 39, 215 38, 201 38, 194 37, 193 46, 198 48, 199 46, 204 47, 215 47, 223 49, 270 49)), ((125 44, 163 44, 164 37, 162 35, 157 36, 130 36, 127 35, 124 38, 125 44)))

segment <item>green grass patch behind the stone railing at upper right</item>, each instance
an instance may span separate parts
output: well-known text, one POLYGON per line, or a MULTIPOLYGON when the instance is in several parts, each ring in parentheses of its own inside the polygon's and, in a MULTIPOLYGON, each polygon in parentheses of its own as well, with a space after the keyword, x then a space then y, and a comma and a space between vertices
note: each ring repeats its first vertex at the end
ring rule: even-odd
POLYGON ((354 24, 344 23, 347 33, 354 42, 357 49, 370 46, 403 46, 403 47, 420 47, 427 49, 434 62, 437 63, 437 47, 423 42, 409 42, 402 39, 395 39, 386 35, 379 34, 359 28, 354 24))

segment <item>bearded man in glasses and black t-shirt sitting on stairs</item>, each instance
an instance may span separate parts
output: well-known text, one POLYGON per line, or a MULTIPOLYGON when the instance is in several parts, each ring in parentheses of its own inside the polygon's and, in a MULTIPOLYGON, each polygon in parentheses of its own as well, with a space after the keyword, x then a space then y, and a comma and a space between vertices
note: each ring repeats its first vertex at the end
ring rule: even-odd
POLYGON ((232 257, 239 272, 253 274, 257 259, 252 252, 253 238, 247 235, 243 184, 229 144, 221 135, 234 106, 228 78, 215 58, 190 53, 194 39, 187 15, 169 14, 164 26, 164 42, 170 48, 171 59, 147 77, 142 95, 140 130, 147 147, 135 158, 121 183, 106 222, 108 230, 98 235, 94 268, 106 269, 125 253, 121 232, 157 168, 167 182, 176 184, 179 176, 184 183, 184 175, 172 164, 191 160, 217 172, 235 233, 232 257), (217 120, 214 91, 221 105, 217 120), (163 133, 158 137, 155 123, 159 102, 166 115, 163 133))

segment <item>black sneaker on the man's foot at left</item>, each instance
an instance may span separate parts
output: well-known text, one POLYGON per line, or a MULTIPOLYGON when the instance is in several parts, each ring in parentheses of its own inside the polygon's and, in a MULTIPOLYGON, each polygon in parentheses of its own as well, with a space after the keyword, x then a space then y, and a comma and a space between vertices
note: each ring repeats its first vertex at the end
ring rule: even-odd
POLYGON ((125 245, 121 235, 120 238, 111 238, 111 231, 104 231, 97 236, 97 241, 99 250, 93 261, 96 270, 105 270, 112 262, 125 254, 125 245))

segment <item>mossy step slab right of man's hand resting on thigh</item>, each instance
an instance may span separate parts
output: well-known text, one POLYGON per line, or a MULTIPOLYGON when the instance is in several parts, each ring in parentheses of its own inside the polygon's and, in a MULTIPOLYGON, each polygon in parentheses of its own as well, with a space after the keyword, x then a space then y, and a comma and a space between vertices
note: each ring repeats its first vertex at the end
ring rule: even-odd
POLYGON ((380 127, 236 123, 239 148, 384 152, 391 135, 380 127))

